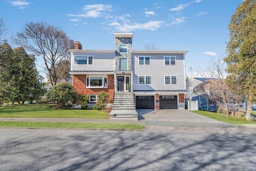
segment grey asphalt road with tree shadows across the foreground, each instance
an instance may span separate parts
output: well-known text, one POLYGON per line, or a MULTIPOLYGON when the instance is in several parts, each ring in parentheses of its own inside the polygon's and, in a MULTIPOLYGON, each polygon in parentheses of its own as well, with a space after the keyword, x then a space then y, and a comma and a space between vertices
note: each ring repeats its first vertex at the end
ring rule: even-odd
POLYGON ((0 170, 254 171, 256 134, 0 128, 0 170))

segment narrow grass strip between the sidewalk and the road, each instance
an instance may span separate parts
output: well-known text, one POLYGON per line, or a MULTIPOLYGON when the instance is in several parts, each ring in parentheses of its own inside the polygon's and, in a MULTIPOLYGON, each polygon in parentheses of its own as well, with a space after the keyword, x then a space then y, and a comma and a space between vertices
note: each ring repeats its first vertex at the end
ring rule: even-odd
POLYGON ((144 129, 143 125, 120 123, 13 122, 0 121, 0 127, 144 129))

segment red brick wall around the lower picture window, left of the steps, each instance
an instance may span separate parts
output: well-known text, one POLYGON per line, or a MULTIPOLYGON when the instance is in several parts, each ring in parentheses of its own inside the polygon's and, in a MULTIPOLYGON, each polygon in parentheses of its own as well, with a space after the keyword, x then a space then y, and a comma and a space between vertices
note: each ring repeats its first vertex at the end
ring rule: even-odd
POLYGON ((78 93, 86 95, 98 94, 100 91, 105 91, 109 94, 109 103, 113 103, 114 75, 108 75, 108 88, 86 88, 86 75, 73 75, 73 86, 78 93))

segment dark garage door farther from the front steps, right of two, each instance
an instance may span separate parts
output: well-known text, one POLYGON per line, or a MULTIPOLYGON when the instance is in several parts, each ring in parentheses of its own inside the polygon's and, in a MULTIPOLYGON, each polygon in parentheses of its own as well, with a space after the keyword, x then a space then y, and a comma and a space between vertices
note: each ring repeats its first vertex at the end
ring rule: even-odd
POLYGON ((178 109, 177 95, 159 95, 160 109, 178 109))

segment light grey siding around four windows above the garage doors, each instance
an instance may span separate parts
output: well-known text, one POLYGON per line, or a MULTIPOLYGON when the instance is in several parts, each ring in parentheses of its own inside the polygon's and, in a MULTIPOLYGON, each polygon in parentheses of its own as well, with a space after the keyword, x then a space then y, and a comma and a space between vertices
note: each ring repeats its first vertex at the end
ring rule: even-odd
POLYGON ((183 57, 183 54, 132 54, 133 90, 185 90, 183 57), (150 66, 139 65, 139 56, 150 56, 150 66), (176 56, 176 65, 163 65, 164 56, 176 56), (139 76, 151 76, 151 84, 139 84, 139 76), (176 84, 165 84, 164 76, 177 76, 176 84))

